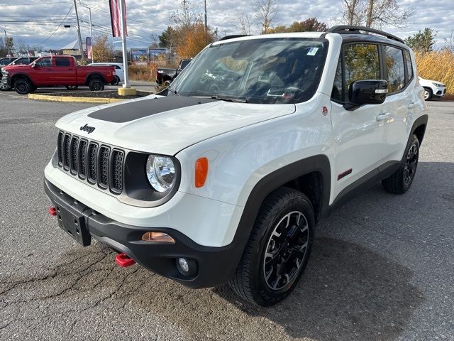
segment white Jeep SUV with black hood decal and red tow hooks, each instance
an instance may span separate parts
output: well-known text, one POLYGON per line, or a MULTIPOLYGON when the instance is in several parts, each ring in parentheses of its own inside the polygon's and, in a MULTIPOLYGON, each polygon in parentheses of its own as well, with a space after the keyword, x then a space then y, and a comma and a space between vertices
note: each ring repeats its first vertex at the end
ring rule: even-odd
POLYGON ((409 46, 369 28, 211 43, 160 94, 57 121, 49 212, 120 266, 275 304, 333 207, 380 180, 409 190, 428 121, 415 75, 409 46))

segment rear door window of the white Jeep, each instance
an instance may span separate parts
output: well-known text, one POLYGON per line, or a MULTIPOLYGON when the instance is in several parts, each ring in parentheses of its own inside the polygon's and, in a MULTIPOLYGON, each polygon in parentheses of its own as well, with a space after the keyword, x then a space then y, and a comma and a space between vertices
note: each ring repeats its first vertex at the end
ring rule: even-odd
POLYGON ((389 82, 389 93, 397 92, 405 87, 404 55, 400 48, 384 47, 384 63, 389 82))

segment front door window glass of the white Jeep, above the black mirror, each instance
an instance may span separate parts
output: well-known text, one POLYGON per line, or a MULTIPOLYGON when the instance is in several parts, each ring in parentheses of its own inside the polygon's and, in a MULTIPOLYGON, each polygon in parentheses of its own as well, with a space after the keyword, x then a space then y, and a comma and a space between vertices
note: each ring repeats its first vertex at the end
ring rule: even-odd
POLYGON ((380 58, 375 44, 345 45, 342 53, 343 67, 339 60, 331 97, 348 102, 348 87, 355 80, 380 80, 380 58))

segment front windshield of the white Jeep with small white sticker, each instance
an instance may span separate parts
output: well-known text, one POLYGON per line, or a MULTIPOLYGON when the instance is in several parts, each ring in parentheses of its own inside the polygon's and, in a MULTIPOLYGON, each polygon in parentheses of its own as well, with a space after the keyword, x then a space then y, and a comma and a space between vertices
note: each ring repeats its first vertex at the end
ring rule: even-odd
POLYGON ((319 85, 328 43, 265 38, 211 45, 184 68, 170 91, 180 96, 298 103, 319 85))

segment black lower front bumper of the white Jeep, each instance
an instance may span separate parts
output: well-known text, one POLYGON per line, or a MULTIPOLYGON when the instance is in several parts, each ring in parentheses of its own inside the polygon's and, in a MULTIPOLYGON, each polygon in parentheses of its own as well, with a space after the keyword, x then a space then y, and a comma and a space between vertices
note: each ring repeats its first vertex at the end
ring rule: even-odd
POLYGON ((55 207, 63 207, 83 217, 89 234, 99 242, 109 245, 116 251, 124 252, 144 268, 190 288, 207 288, 226 283, 236 271, 243 254, 243 243, 232 242, 225 247, 205 247, 196 244, 175 229, 138 227, 111 220, 74 200, 46 179, 44 188, 55 207), (142 235, 150 231, 169 234, 175 239, 175 244, 142 241, 142 235), (176 264, 178 257, 196 261, 196 274, 192 276, 181 274, 176 264))

